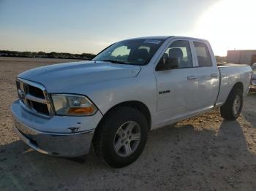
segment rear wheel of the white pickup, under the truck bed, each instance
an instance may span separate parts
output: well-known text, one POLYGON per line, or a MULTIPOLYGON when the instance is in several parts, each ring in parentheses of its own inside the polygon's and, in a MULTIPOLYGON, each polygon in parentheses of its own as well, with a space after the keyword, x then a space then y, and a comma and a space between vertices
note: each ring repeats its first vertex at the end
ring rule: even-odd
POLYGON ((237 88, 231 90, 225 104, 220 107, 220 114, 225 120, 236 120, 241 114, 243 102, 243 91, 237 88), (235 104, 237 106, 236 109, 234 109, 235 104))

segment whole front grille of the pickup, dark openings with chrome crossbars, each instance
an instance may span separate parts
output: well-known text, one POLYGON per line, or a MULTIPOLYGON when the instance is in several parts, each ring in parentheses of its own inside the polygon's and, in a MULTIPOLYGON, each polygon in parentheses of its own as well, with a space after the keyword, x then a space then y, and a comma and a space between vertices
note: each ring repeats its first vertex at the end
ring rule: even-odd
POLYGON ((52 114, 45 87, 24 79, 17 79, 16 85, 20 104, 22 104, 23 107, 35 114, 44 116, 50 116, 52 114))

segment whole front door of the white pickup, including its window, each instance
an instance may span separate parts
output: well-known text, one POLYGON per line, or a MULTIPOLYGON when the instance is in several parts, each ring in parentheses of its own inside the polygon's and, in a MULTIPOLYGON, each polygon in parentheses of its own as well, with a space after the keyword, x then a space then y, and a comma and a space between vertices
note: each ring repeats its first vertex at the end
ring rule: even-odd
POLYGON ((155 71, 157 117, 160 122, 185 117, 197 109, 197 71, 193 67, 190 44, 182 39, 170 42, 162 57, 178 58, 178 67, 155 71))

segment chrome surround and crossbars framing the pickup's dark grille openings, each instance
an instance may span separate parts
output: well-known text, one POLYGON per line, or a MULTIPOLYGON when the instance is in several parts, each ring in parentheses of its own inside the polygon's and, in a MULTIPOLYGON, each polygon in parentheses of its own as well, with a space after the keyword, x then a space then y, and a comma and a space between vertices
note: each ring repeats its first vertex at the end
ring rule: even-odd
POLYGON ((52 117, 54 114, 53 105, 51 104, 50 97, 46 91, 46 88, 37 82, 31 82, 27 79, 22 79, 22 78, 17 77, 16 80, 18 82, 20 82, 20 90, 24 93, 24 98, 20 98, 20 100, 22 100, 22 101, 20 101, 20 104, 23 106, 23 108, 29 112, 32 112, 34 114, 41 116, 41 117, 52 117), (27 92, 26 88, 24 88, 26 85, 31 85, 33 87, 37 87, 40 90, 42 90, 42 93, 43 93, 45 99, 37 98, 36 96, 31 95, 29 92, 27 92), (46 104, 46 106, 48 107, 49 115, 37 112, 35 109, 33 109, 33 106, 31 106, 31 104, 29 104, 28 100, 35 101, 40 104, 46 104))

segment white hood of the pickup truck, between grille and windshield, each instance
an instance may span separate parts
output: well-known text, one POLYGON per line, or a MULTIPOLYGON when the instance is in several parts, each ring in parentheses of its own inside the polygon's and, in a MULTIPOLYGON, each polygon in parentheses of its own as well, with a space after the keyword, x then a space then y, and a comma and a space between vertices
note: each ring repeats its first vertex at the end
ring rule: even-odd
POLYGON ((18 77, 39 82, 48 92, 72 89, 74 86, 136 77, 140 66, 109 62, 81 61, 59 63, 24 71, 18 77))

